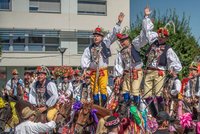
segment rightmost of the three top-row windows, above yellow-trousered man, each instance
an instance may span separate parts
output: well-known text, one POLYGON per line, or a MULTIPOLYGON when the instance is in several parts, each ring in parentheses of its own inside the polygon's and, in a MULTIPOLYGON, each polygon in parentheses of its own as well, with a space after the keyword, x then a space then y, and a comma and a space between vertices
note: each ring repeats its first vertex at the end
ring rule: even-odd
POLYGON ((78 14, 106 15, 106 0, 78 0, 78 14))

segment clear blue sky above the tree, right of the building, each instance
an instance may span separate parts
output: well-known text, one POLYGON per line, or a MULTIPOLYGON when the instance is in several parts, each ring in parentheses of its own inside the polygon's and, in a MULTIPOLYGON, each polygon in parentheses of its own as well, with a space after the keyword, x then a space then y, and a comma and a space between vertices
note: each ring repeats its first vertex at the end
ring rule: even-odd
MULTIPOLYGON (((147 2, 151 10, 159 10, 160 14, 166 13, 167 9, 175 9, 180 16, 183 13, 190 17, 191 33, 198 39, 200 37, 200 0, 130 0, 131 23, 136 20, 137 14, 143 12, 147 2)), ((200 41, 199 41, 200 42, 200 41)))

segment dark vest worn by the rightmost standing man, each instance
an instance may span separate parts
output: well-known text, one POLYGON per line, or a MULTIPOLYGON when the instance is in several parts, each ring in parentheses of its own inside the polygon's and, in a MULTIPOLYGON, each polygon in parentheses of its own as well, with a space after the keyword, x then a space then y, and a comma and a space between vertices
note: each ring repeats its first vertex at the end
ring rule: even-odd
MULTIPOLYGON (((157 59, 157 65, 159 65, 159 66, 167 66, 167 50, 169 49, 169 48, 171 48, 169 45, 166 45, 166 44, 163 44, 164 45, 164 50, 163 50, 163 53, 159 56, 159 57, 157 57, 158 59, 157 59)), ((162 47, 163 45, 160 45, 159 43, 158 43, 158 41, 157 42, 154 42, 153 44, 151 44, 151 46, 149 47, 149 49, 148 49, 148 51, 147 51, 147 54, 146 54, 146 59, 148 59, 148 55, 149 55, 149 53, 150 53, 150 51, 151 51, 151 49, 153 48, 153 47, 162 47)), ((148 61, 148 60, 147 60, 148 61)))

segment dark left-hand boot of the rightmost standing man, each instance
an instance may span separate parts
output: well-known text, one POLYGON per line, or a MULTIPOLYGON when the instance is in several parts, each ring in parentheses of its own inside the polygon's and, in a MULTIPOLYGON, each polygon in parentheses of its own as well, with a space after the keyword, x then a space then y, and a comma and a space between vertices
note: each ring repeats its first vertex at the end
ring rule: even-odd
POLYGON ((149 98, 146 98, 146 103, 148 105, 148 109, 150 110, 151 112, 151 115, 156 118, 157 114, 158 114, 158 110, 156 108, 156 105, 153 101, 153 98, 152 97, 149 97, 149 98))

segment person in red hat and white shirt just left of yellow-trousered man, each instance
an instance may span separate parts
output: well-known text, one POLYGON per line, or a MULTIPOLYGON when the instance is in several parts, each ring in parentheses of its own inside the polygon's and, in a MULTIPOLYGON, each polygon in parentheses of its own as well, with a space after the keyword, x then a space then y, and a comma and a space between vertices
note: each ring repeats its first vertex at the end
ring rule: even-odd
POLYGON ((74 71, 74 81, 72 82, 72 86, 73 86, 73 98, 76 101, 80 101, 81 99, 81 87, 82 87, 82 83, 83 81, 81 80, 81 71, 76 69, 74 71))

